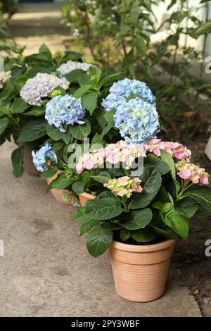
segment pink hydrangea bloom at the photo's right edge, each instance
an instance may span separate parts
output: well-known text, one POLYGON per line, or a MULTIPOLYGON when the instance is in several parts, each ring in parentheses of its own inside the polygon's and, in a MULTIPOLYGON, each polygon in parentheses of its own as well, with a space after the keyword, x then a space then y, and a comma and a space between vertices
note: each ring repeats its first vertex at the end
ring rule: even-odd
POLYGON ((207 185, 209 184, 208 173, 204 168, 200 168, 193 163, 187 163, 181 160, 176 163, 177 174, 184 180, 191 180, 193 184, 207 185))

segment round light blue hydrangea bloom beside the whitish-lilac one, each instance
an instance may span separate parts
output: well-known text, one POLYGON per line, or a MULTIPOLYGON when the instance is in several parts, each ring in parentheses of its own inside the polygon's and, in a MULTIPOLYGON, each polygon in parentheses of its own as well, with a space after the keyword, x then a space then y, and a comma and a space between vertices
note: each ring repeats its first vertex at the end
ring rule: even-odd
POLYGON ((59 127, 61 132, 65 132, 63 125, 84 124, 85 110, 82 107, 81 99, 66 94, 65 96, 55 96, 46 104, 45 118, 50 125, 59 127))

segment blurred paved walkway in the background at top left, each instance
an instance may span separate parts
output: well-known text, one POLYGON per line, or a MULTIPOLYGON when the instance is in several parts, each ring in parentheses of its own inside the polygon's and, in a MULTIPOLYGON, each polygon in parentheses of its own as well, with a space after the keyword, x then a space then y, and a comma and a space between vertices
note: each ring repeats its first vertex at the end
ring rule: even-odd
POLYGON ((25 55, 37 52, 45 43, 51 51, 70 47, 70 33, 60 24, 60 3, 19 4, 18 13, 12 16, 9 26, 15 42, 27 46, 25 55))

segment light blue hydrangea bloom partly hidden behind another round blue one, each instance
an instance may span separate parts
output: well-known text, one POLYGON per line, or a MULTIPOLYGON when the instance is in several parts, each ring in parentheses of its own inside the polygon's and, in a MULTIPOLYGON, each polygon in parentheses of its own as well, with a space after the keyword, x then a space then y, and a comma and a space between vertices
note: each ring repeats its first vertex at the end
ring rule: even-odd
POLYGON ((103 102, 101 103, 106 111, 116 109, 117 106, 120 106, 122 102, 126 101, 128 96, 132 93, 138 94, 144 101, 155 105, 155 96, 153 96, 151 89, 145 82, 140 82, 140 80, 129 80, 128 78, 124 78, 124 80, 119 80, 118 82, 113 83, 113 86, 110 87, 109 91, 110 94, 108 94, 106 99, 103 99, 103 102))

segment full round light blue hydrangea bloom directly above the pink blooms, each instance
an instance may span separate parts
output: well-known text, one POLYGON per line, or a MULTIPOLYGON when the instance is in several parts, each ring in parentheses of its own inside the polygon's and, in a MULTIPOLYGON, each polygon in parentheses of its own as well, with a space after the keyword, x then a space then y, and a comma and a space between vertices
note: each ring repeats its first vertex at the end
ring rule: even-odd
POLYGON ((115 127, 120 129, 120 135, 133 144, 148 142, 160 130, 155 106, 138 97, 118 106, 114 120, 115 127))

